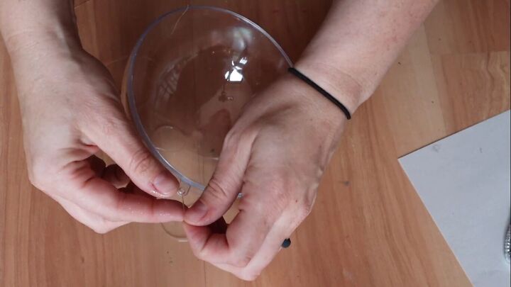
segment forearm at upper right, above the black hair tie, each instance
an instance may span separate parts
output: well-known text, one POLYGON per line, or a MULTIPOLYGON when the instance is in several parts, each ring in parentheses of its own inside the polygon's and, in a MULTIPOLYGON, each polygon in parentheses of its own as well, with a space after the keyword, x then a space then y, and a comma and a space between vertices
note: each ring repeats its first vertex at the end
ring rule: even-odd
POLYGON ((353 112, 437 1, 336 1, 295 67, 353 112))

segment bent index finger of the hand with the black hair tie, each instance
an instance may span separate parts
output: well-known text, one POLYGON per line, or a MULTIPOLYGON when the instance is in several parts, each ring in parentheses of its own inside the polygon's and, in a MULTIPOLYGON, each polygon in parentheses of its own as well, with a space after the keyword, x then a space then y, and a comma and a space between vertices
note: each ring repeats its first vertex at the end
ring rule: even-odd
MULTIPOLYGON (((262 246, 268 232, 288 208, 288 196, 282 184, 276 184, 275 174, 249 174, 251 178, 265 178, 273 184, 246 181, 239 213, 227 227, 224 235, 214 234, 209 227, 185 225, 189 244, 194 254, 211 263, 247 266, 262 246), (260 186, 267 186, 263 190, 260 186), (271 188, 271 189, 269 189, 271 188)), ((282 239, 284 240, 284 239, 282 239)), ((282 243, 282 242, 280 242, 282 243)))

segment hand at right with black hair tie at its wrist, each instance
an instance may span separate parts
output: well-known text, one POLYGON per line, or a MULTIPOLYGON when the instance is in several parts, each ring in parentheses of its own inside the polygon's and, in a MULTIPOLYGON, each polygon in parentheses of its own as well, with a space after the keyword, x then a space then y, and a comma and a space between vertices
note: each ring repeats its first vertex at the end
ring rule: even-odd
POLYGON ((312 209, 345 121, 333 103, 290 75, 248 103, 209 185, 185 213, 194 254, 255 279, 312 209), (239 213, 227 226, 222 215, 239 192, 239 213))

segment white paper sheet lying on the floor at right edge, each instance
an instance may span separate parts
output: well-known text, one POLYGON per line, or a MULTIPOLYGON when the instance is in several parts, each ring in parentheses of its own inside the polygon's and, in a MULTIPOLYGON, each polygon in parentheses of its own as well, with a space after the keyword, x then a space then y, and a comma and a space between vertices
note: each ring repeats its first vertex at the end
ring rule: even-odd
POLYGON ((510 111, 400 158, 474 286, 510 286, 510 111))

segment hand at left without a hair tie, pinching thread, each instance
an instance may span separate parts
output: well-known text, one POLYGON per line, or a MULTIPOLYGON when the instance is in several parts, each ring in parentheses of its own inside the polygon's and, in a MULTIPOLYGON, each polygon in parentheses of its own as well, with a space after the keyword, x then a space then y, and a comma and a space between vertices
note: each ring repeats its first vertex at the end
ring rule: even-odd
POLYGON ((68 40, 9 46, 31 182, 99 233, 182 220, 181 203, 155 198, 172 196, 177 179, 138 140, 106 68, 79 45, 57 43, 68 40), (106 167, 100 150, 118 165, 106 167))

